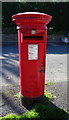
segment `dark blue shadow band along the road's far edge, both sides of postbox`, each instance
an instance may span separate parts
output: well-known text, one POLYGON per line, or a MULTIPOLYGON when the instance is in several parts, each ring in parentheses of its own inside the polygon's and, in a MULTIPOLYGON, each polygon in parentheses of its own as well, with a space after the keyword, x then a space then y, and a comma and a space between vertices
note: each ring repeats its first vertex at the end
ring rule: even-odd
MULTIPOLYGON (((8 53, 14 53, 14 54, 18 53, 18 46, 3 45, 2 54, 8 54, 8 53)), ((69 53, 69 44, 48 43, 47 45, 47 54, 67 54, 67 53, 69 53)))

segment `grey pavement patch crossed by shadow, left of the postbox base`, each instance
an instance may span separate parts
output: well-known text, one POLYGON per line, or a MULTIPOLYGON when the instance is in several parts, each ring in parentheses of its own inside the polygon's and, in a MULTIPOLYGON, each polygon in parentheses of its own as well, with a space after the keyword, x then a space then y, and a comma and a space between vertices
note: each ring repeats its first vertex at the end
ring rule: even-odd
POLYGON ((15 97, 16 92, 19 92, 19 86, 9 86, 9 87, 2 87, 2 111, 0 111, 0 116, 5 116, 10 113, 15 113, 20 115, 25 113, 27 109, 21 105, 20 100, 15 97))

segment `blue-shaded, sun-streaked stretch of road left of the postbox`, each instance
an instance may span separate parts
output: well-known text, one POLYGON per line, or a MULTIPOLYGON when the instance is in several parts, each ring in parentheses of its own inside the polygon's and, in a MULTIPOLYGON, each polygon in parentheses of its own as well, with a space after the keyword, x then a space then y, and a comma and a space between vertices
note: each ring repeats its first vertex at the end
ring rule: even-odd
POLYGON ((2 85, 19 84, 19 57, 17 45, 2 47, 2 85))

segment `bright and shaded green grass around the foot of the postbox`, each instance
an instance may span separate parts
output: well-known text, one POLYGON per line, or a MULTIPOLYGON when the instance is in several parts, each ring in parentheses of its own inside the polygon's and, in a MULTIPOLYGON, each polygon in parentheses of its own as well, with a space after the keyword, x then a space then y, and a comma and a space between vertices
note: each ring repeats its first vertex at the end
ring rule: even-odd
MULTIPOLYGON (((19 94, 15 96, 19 98, 19 94)), ((53 95, 45 92, 42 101, 35 103, 31 110, 21 115, 8 114, 1 117, 0 120, 67 120, 69 113, 53 105, 51 103, 52 99, 53 95)))

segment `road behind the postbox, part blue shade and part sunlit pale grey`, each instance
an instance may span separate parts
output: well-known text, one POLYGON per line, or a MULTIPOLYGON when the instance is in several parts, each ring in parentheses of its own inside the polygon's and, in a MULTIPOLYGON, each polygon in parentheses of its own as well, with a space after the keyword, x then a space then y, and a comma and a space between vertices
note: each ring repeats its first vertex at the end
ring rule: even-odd
MULTIPOLYGON (((67 45, 47 46, 46 81, 61 82, 67 80, 68 48, 67 45)), ((17 46, 3 46, 2 56, 0 56, 0 61, 1 60, 2 76, 0 76, 0 79, 2 78, 2 81, 0 81, 0 86, 9 84, 19 85, 19 57, 17 46)))

